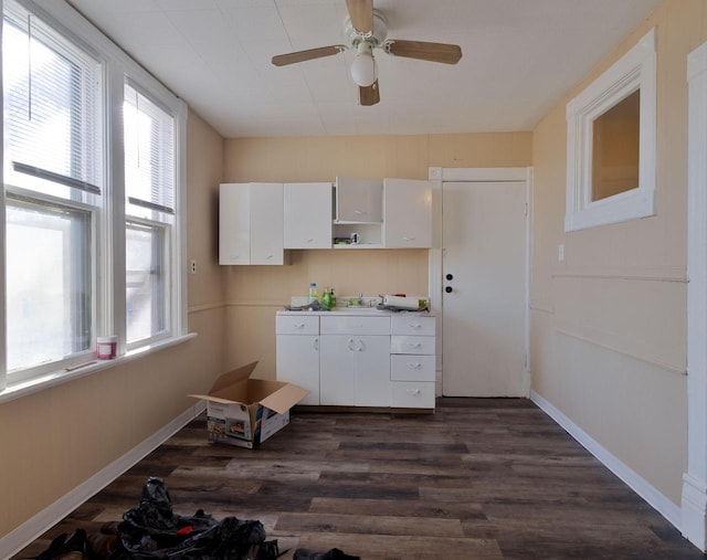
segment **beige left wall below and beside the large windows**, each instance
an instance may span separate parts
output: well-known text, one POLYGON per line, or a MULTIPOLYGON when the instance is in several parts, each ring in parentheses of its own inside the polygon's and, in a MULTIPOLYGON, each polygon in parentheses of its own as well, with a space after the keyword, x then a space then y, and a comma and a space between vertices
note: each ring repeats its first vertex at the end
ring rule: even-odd
POLYGON ((0 535, 129 452, 194 404, 222 371, 223 284, 215 265, 218 183, 223 140, 188 120, 189 276, 186 344, 0 406, 0 535), (11 506, 11 507, 10 507, 11 506))

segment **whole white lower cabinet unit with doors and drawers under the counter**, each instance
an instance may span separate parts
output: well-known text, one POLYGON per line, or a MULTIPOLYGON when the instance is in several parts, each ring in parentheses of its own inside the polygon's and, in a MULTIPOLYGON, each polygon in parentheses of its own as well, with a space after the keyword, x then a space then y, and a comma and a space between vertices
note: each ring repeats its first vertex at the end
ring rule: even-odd
POLYGON ((435 319, 281 311, 277 379, 300 404, 434 409, 435 319))

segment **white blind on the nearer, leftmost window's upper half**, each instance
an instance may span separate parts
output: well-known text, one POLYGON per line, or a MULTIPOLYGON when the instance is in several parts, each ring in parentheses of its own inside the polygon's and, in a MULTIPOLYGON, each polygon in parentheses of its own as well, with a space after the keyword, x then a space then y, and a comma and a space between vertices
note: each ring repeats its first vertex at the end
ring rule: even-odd
POLYGON ((17 2, 2 33, 7 179, 99 193, 101 64, 17 2), (8 157, 9 156, 9 157, 8 157))

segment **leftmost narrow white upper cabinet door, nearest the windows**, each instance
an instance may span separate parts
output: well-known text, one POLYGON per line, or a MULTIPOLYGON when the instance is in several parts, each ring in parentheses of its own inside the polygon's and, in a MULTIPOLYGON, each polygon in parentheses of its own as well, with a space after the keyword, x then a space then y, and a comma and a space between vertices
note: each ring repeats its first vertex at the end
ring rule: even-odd
POLYGON ((219 264, 251 263, 251 187, 219 188, 219 264))

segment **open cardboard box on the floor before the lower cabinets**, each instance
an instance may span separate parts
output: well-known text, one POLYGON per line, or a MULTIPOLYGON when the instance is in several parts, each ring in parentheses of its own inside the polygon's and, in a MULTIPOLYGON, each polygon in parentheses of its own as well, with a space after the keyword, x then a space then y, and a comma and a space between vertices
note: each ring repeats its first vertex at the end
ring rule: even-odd
POLYGON ((289 409, 309 391, 284 381, 250 379, 257 362, 220 376, 207 401, 208 437, 240 447, 257 447, 289 423, 289 409))

